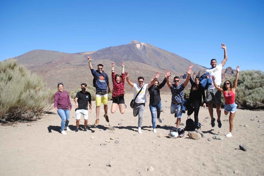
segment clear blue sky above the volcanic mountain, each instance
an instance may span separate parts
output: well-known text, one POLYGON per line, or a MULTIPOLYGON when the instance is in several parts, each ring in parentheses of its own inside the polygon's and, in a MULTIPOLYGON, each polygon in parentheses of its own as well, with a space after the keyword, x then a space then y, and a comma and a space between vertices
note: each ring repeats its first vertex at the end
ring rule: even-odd
POLYGON ((0 61, 42 49, 66 53, 149 43, 210 67, 264 71, 264 1, 9 1, 0 3, 0 61))

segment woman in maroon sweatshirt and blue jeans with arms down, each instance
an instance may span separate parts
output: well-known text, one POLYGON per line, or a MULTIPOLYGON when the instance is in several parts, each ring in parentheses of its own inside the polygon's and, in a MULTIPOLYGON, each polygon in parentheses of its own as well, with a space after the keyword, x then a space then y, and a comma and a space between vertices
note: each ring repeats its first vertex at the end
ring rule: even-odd
POLYGON ((54 95, 54 108, 61 118, 61 134, 66 135, 64 128, 66 127, 66 130, 70 131, 68 124, 72 106, 69 93, 63 90, 63 83, 58 83, 58 90, 54 95))

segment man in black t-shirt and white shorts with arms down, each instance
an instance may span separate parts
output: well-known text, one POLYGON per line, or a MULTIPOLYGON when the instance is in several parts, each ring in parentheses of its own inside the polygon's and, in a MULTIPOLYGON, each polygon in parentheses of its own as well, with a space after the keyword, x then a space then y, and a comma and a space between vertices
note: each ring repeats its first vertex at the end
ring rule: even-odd
POLYGON ((81 88, 82 91, 77 92, 74 102, 75 102, 75 111, 76 111, 76 130, 75 132, 79 132, 79 122, 81 119, 81 115, 84 116, 84 132, 87 132, 86 126, 88 124, 88 111, 91 113, 92 111, 92 100, 91 100, 91 94, 86 91, 87 84, 82 83, 81 88), (88 106, 89 102, 89 106, 88 106))

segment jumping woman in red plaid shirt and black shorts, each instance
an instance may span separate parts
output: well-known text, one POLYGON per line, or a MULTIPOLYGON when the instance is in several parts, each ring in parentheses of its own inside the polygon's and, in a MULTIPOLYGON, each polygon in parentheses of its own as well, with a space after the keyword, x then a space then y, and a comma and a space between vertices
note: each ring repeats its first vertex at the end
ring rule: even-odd
POLYGON ((112 81, 113 81, 113 103, 111 107, 111 112, 115 113, 117 110, 117 107, 119 107, 119 111, 121 114, 125 113, 125 100, 124 100, 124 85, 125 85, 125 64, 121 63, 122 65, 122 73, 121 75, 116 74, 115 75, 115 70, 114 70, 114 65, 115 63, 112 62, 112 81))

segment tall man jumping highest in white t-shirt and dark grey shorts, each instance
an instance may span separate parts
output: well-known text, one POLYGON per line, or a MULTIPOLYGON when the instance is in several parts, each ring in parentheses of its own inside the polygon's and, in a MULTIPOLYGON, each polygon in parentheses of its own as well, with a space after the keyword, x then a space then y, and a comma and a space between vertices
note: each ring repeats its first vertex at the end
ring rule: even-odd
MULTIPOLYGON (((215 83, 219 86, 222 82, 221 74, 222 74, 222 68, 225 65, 227 61, 227 50, 225 44, 221 44, 221 48, 224 49, 224 59, 221 62, 221 64, 217 65, 216 59, 212 59, 210 65, 212 66, 210 69, 206 70, 207 77, 212 79, 212 75, 215 77, 215 83)), ((221 116, 221 92, 218 91, 214 84, 209 85, 207 91, 206 91, 206 99, 208 103, 208 110, 211 117, 211 126, 215 126, 215 118, 214 118, 214 111, 213 111, 213 103, 215 103, 216 106, 216 113, 217 113, 217 122, 218 127, 222 127, 222 123, 220 120, 221 116)))

